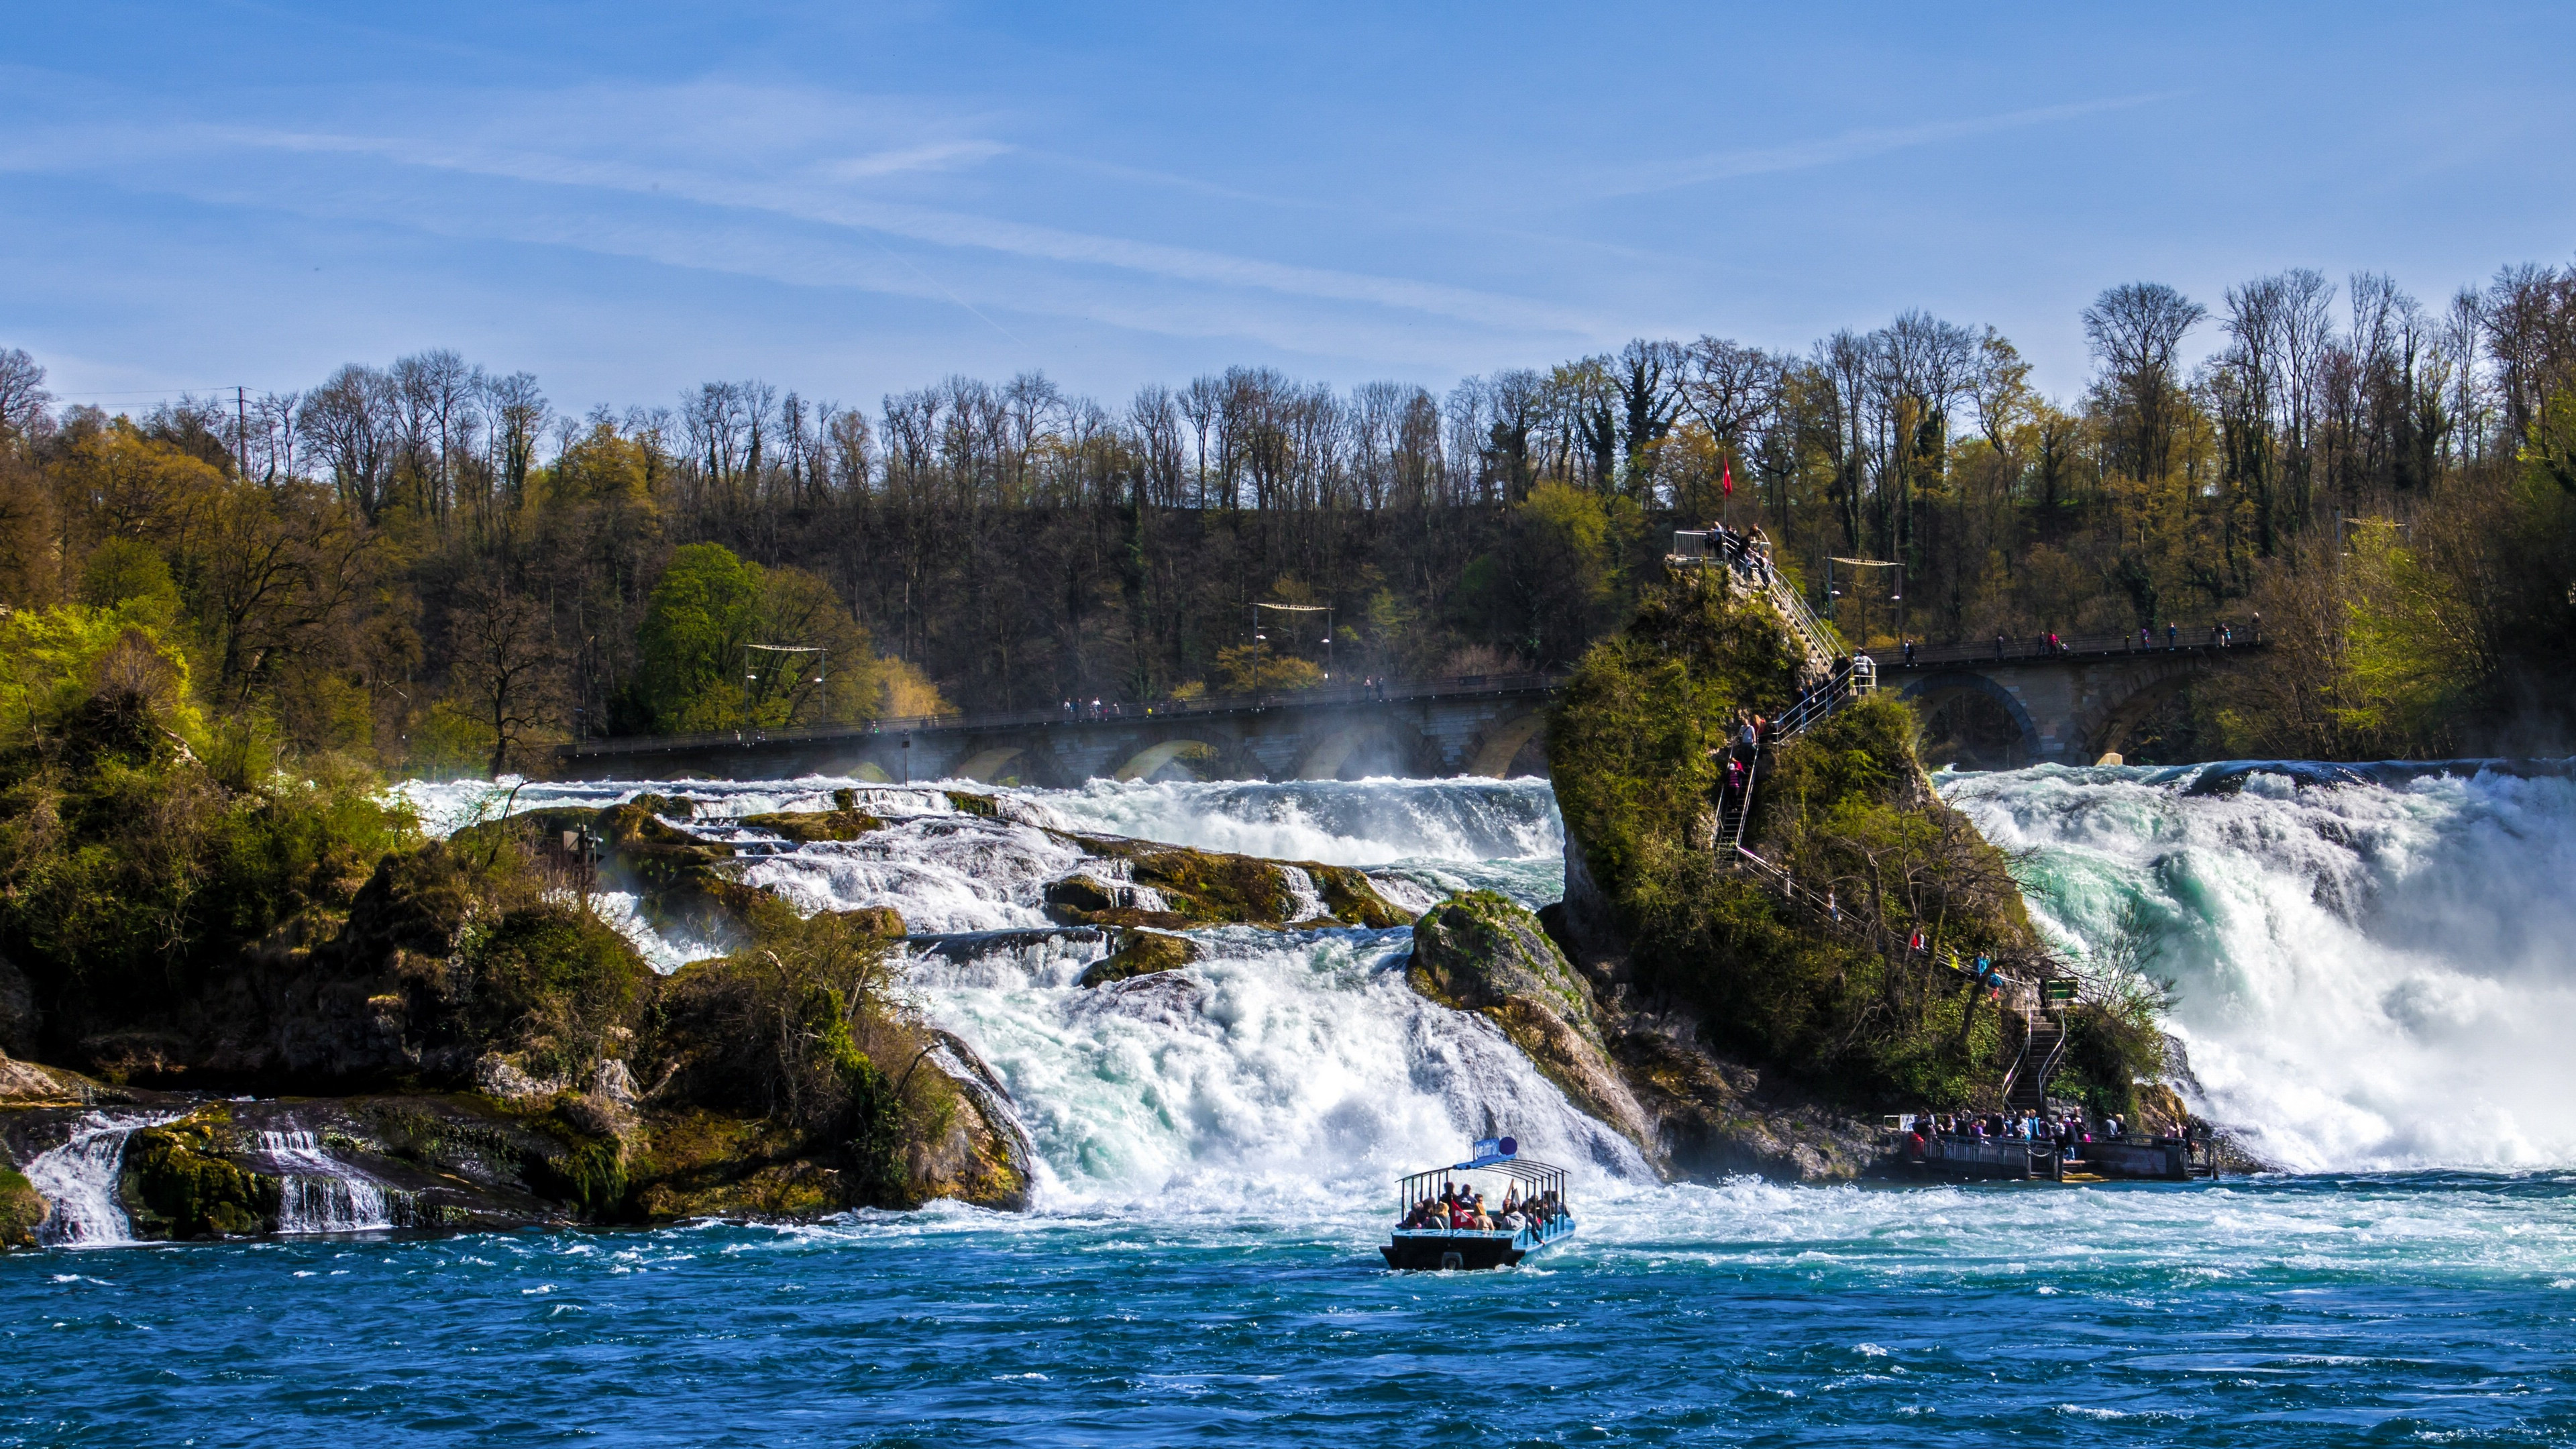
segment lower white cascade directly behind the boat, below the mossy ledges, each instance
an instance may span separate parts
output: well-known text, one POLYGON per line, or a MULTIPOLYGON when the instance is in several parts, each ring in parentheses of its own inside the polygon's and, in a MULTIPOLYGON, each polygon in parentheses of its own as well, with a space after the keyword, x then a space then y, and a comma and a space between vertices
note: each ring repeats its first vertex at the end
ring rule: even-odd
POLYGON ((1090 951, 914 959, 909 987, 1007 1083, 1041 1204, 1262 1212, 1373 1199, 1486 1124, 1587 1181, 1651 1181, 1481 1016, 1404 985, 1404 931, 1195 931, 1182 972, 1084 990, 1090 951))

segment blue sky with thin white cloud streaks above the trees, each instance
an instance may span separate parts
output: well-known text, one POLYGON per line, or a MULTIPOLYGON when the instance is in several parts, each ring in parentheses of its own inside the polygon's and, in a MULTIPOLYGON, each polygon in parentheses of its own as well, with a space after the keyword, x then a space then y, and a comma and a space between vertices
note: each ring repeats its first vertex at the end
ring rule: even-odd
POLYGON ((26 8, 0 345, 111 407, 430 345, 1115 405, 1927 307, 2069 394, 2110 284, 2576 255, 2566 5, 1396 10, 26 8))

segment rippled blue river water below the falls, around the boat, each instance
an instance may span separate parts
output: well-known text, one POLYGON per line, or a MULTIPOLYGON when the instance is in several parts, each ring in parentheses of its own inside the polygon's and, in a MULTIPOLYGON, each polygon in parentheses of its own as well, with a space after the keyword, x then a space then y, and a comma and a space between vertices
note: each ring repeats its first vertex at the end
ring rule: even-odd
POLYGON ((1649 1189, 1502 1274, 1363 1214, 0 1263, 10 1444, 2553 1444, 2566 1178, 1649 1189))

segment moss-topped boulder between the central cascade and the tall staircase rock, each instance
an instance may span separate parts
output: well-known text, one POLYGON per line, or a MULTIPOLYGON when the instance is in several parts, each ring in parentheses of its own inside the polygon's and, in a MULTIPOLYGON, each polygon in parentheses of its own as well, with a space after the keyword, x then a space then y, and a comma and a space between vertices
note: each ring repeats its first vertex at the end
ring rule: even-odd
POLYGON ((1435 905, 1414 923, 1404 980, 1492 1018, 1579 1109, 1656 1155, 1654 1127, 1600 1036, 1592 993, 1528 908, 1492 890, 1435 905))

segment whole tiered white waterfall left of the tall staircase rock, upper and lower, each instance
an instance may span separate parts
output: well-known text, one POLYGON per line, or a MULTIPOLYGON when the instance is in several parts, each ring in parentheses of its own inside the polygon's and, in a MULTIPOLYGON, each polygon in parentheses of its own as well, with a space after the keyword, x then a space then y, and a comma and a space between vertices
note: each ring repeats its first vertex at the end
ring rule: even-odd
MULTIPOLYGON (((404 789, 438 820, 466 820, 484 799, 404 789)), ((1540 905, 1564 884, 1564 828, 1543 781, 1095 781, 1002 792, 989 817, 938 792, 827 779, 618 781, 528 786, 518 807, 688 794, 701 804, 685 825, 732 838, 726 817, 829 807, 832 789, 860 789, 886 828, 778 848, 742 874, 799 910, 904 915, 917 933, 904 990, 1007 1091, 1041 1207, 1332 1209, 1376 1201, 1396 1176, 1458 1160, 1494 1129, 1592 1183, 1654 1178, 1489 1021, 1404 985, 1409 931, 1193 931, 1190 967, 1082 987, 1113 936, 1046 915, 1046 884, 1074 871, 1154 905, 1121 861, 1048 828, 1368 866, 1412 908, 1466 887, 1540 905)), ((1288 920, 1324 915, 1309 871, 1291 866, 1285 887, 1288 920)))

